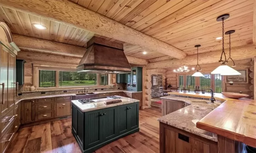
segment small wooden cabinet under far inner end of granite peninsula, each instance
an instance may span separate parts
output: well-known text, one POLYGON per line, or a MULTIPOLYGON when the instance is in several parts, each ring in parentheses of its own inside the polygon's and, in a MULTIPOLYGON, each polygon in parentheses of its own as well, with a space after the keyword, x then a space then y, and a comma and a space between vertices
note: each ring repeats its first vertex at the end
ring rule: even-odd
POLYGON ((177 100, 162 99, 162 116, 175 112, 185 107, 185 102, 177 100))

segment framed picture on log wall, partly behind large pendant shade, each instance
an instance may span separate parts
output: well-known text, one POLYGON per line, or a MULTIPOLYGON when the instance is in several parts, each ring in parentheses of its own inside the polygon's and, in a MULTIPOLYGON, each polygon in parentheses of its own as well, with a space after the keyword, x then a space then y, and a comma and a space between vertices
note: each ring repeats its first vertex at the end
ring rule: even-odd
POLYGON ((248 84, 248 69, 237 70, 241 73, 241 75, 227 75, 226 76, 226 83, 233 82, 233 83, 244 83, 248 84))

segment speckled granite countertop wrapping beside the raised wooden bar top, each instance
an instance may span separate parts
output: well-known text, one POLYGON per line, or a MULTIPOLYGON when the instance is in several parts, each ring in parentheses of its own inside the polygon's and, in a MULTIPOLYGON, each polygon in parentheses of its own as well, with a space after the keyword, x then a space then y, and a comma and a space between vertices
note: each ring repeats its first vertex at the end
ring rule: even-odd
POLYGON ((181 130, 199 135, 201 137, 213 140, 217 142, 217 135, 202 129, 198 129, 196 124, 192 122, 192 120, 199 121, 204 116, 213 111, 216 107, 221 104, 221 101, 216 101, 216 103, 211 103, 210 100, 202 100, 202 99, 194 99, 194 98, 185 98, 185 97, 177 97, 177 96, 165 96, 161 97, 163 99, 171 99, 177 101, 183 101, 188 104, 182 109, 170 113, 168 115, 162 116, 157 120, 159 122, 174 126, 175 128, 179 128, 181 130), (199 101, 199 102, 195 102, 199 101), (207 102, 207 103, 205 103, 207 102))

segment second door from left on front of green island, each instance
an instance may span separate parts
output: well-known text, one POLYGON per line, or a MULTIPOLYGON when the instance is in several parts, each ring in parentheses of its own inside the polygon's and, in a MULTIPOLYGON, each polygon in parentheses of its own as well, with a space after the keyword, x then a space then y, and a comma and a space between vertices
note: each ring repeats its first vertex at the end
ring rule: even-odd
POLYGON ((117 136, 117 107, 110 107, 103 112, 103 141, 117 136))

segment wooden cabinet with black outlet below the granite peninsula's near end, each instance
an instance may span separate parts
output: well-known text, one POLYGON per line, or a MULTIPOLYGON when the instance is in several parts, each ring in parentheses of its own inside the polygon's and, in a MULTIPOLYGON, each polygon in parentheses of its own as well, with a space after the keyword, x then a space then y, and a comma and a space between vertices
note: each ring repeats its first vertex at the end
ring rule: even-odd
POLYGON ((160 153, 216 153, 217 142, 160 122, 160 153))

